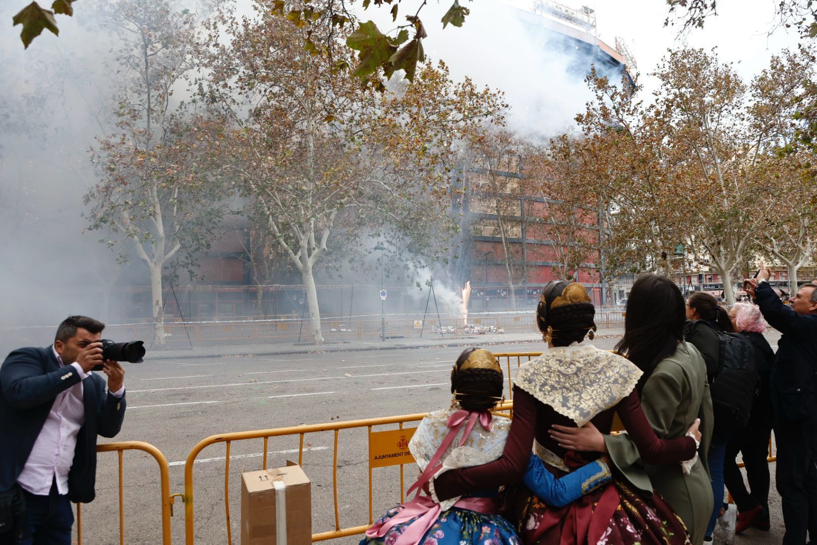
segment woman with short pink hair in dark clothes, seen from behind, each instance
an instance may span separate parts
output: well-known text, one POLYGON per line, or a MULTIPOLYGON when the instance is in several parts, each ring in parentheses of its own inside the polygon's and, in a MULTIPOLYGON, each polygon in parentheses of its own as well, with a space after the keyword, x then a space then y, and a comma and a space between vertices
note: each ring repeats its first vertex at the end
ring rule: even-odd
POLYGON ((766 320, 758 306, 735 303, 729 311, 729 318, 734 330, 752 343, 757 364, 757 394, 749 422, 745 428, 735 431, 726 445, 724 481, 738 504, 738 523, 734 531, 739 534, 750 526, 769 529, 769 463, 766 462, 766 453, 772 428, 770 372, 775 362, 775 351, 763 337, 766 320), (743 453, 751 492, 743 485, 743 476, 735 462, 738 453, 743 453))

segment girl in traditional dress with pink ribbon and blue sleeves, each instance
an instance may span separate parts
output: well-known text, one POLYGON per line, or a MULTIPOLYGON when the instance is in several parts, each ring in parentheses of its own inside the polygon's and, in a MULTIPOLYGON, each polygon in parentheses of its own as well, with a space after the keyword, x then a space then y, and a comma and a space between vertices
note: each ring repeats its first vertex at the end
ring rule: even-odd
MULTIPOLYGON (((451 408, 422 419, 409 449, 421 474, 407 495, 413 500, 386 512, 360 545, 520 545, 513 526, 498 515, 497 487, 485 487, 444 502, 429 487, 431 477, 458 467, 491 462, 502 455, 511 421, 489 412, 501 400, 502 368, 489 351, 462 352, 451 372, 451 408)), ((525 483, 549 503, 566 505, 610 479, 603 460, 556 479, 535 456, 525 461, 525 483)))

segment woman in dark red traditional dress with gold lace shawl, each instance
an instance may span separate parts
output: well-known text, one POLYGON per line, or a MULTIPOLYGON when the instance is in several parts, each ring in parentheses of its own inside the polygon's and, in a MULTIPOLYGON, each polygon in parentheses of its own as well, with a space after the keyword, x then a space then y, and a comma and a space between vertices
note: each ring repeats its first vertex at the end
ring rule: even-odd
MULTIPOLYGON (((641 369, 625 358, 579 344, 595 330, 595 308, 581 284, 548 283, 537 309, 538 327, 548 346, 516 375, 514 414, 502 457, 479 467, 447 471, 433 484, 438 498, 519 481, 534 446, 538 457, 557 476, 600 457, 576 453, 551 437, 555 424, 582 427, 592 422, 609 432, 618 413, 641 458, 673 464, 676 471, 701 463, 697 459, 698 425, 688 422, 690 436, 659 440, 641 410, 636 384, 641 369)), ((689 543, 685 525, 659 496, 641 496, 617 476, 607 485, 565 507, 548 503, 535 490, 511 486, 504 514, 528 545, 559 543, 689 543)))

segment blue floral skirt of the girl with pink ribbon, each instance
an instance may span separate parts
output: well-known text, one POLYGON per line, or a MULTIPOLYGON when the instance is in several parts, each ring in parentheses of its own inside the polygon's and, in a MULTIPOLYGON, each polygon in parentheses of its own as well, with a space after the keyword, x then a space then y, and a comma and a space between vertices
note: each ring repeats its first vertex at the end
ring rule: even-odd
MULTIPOLYGON (((397 506, 382 516, 384 520, 391 519, 402 510, 397 506)), ((363 538, 360 545, 383 544, 392 545, 403 533, 404 529, 413 520, 402 525, 395 525, 382 538, 363 538)), ((499 515, 485 515, 468 509, 452 507, 440 513, 440 516, 423 535, 418 545, 520 545, 519 538, 513 526, 499 515)))

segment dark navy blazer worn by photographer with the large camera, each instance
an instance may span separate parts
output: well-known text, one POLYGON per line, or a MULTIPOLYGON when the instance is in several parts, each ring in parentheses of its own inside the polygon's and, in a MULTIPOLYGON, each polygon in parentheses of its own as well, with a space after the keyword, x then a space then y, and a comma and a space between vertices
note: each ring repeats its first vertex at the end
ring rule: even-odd
MULTIPOLYGON (((0 367, 0 491, 16 483, 56 396, 79 381, 74 366, 60 368, 51 346, 20 348, 7 356, 0 367)), ((118 434, 125 396, 108 395, 105 380, 90 373, 83 382, 83 402, 85 423, 77 435, 68 496, 89 503, 95 495, 96 435, 118 434)))

